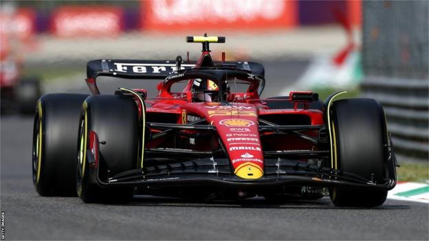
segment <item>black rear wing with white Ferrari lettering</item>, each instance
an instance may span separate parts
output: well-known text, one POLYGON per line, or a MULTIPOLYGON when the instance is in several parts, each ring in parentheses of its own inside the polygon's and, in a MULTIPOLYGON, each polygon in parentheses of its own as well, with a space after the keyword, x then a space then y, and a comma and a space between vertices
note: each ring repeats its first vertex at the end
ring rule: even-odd
MULTIPOLYGON (((196 61, 183 61, 180 69, 194 68, 196 61)), ((214 66, 235 67, 265 75, 263 65, 257 62, 225 61, 215 62, 214 66)), ((87 84, 94 95, 100 94, 96 84, 98 76, 133 78, 146 80, 164 80, 177 71, 175 60, 91 60, 87 64, 87 84)))

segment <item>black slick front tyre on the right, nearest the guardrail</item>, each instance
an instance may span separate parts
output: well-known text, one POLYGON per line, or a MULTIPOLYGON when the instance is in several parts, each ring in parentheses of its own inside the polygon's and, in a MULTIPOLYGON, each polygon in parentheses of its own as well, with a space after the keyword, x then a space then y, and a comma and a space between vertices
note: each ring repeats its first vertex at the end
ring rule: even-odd
MULTIPOLYGON (((382 106, 373 99, 338 100, 331 106, 334 168, 360 176, 365 181, 386 183, 387 130, 382 106)), ((333 188, 333 204, 349 207, 377 207, 387 190, 333 188)))

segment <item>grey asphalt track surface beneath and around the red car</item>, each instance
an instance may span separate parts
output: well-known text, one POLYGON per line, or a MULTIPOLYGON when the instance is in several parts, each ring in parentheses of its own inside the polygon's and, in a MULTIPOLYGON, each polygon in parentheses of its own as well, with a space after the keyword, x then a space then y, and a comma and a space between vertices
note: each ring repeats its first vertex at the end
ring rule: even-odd
MULTIPOLYGON (((283 64, 267 65, 269 95, 291 84, 283 71, 292 80, 306 62, 283 64)), ((195 203, 135 196, 127 205, 102 205, 42 197, 32 185, 32 117, 0 120, 5 240, 428 240, 428 204, 399 200, 349 209, 335 207, 329 198, 279 205, 263 198, 195 203)))

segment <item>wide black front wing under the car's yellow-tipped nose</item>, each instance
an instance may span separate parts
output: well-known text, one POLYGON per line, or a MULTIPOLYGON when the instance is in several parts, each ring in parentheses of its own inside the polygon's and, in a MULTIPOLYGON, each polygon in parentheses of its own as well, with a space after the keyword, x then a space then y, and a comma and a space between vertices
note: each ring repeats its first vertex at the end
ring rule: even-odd
POLYGON ((89 168, 91 182, 101 187, 207 186, 252 190, 266 187, 310 186, 391 190, 396 184, 394 174, 389 174, 385 183, 373 183, 340 170, 280 158, 265 159, 265 172, 261 179, 241 179, 233 174, 228 159, 206 158, 129 170, 111 176, 107 181, 102 181, 98 175, 99 168, 94 156, 92 154, 89 156, 90 167, 92 167, 89 168))

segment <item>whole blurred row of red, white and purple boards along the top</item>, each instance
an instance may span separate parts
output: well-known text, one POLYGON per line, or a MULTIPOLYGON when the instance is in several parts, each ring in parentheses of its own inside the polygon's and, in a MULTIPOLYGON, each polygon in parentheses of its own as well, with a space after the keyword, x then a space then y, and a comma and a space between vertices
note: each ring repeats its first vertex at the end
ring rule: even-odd
POLYGON ((360 1, 143 0, 123 4, 120 1, 97 1, 96 4, 14 1, 6 5, 14 5, 17 14, 2 11, 0 21, 2 31, 14 29, 62 38, 115 37, 130 30, 166 34, 177 31, 201 34, 206 30, 212 34, 225 30, 264 33, 301 25, 336 23, 334 10, 344 12, 350 23, 360 26, 360 1), (6 18, 16 24, 10 24, 6 18))

